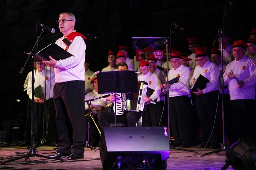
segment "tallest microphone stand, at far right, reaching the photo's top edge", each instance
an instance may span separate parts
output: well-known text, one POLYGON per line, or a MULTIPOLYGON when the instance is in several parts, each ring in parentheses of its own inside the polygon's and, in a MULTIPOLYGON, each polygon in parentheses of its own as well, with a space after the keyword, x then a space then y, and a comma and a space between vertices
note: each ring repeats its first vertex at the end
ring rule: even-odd
MULTIPOLYGON (((228 0, 227 0, 228 1, 228 0)), ((201 154, 200 156, 203 157, 205 155, 210 155, 212 153, 219 153, 221 151, 227 151, 227 148, 226 148, 226 145, 225 145, 225 128, 224 128, 224 80, 223 80, 223 62, 224 62, 224 59, 223 59, 223 50, 224 50, 224 44, 223 44, 223 35, 224 35, 224 20, 225 20, 225 17, 227 16, 227 13, 226 13, 226 7, 227 7, 227 1, 226 1, 226 5, 225 5, 225 9, 224 9, 224 14, 223 14, 223 18, 222 18, 222 24, 219 28, 219 31, 218 31, 218 34, 220 34, 220 37, 221 37, 221 72, 220 72, 220 76, 221 76, 221 111, 222 111, 222 140, 223 140, 223 143, 221 144, 221 147, 220 149, 216 150, 216 151, 213 151, 213 152, 208 152, 208 153, 205 153, 205 154, 201 154)), ((231 8, 231 5, 229 6, 228 9, 231 8)))

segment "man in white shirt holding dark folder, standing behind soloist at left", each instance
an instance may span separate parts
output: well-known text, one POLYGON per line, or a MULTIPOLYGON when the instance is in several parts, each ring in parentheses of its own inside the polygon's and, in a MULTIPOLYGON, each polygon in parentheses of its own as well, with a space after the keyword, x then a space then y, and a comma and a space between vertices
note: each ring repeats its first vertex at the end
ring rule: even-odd
MULTIPOLYGON (((54 71, 45 69, 45 65, 41 62, 36 63, 34 89, 41 85, 42 91, 45 93, 45 98, 38 98, 34 95, 34 139, 35 144, 40 144, 43 140, 43 118, 45 112, 45 125, 48 125, 48 134, 46 140, 52 145, 57 139, 57 131, 55 125, 55 109, 53 102, 53 89, 55 85, 54 71), (46 78, 45 78, 46 72, 46 78), (46 79, 46 80, 45 80, 46 79), (45 82, 46 81, 46 82, 45 82), (46 91, 45 91, 46 90, 46 91), (45 103, 45 111, 44 111, 45 103), (49 117, 49 118, 48 118, 49 117)), ((39 87, 38 87, 39 88, 39 87)), ((32 74, 29 76, 28 91, 29 99, 32 99, 32 74)), ((30 120, 27 119, 30 122, 30 120)), ((56 145, 56 144, 55 144, 56 145)))

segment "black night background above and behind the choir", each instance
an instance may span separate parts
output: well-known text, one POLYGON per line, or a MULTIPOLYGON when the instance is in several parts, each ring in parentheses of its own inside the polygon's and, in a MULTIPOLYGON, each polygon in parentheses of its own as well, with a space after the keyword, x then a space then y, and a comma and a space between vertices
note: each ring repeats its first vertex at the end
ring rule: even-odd
MULTIPOLYGON (((224 31, 235 40, 246 40, 256 25, 255 0, 232 1, 236 10, 227 4, 224 31)), ((88 41, 86 57, 90 69, 102 70, 108 65, 107 53, 117 52, 118 45, 128 45, 131 54, 131 37, 166 37, 172 22, 178 23, 184 32, 175 30, 172 45, 185 54, 187 37, 198 36, 201 46, 208 51, 222 23, 225 0, 2 0, 0 1, 0 50, 1 50, 1 120, 24 119, 27 93, 23 84, 31 64, 19 74, 42 27, 37 23, 55 28, 55 33, 45 30, 38 49, 62 36, 56 20, 61 12, 76 16, 76 31, 98 36, 88 41), (19 99, 20 102, 17 102, 19 99)), ((218 45, 218 43, 217 43, 218 45)), ((131 56, 131 55, 130 55, 131 56)), ((0 121, 2 123, 2 121, 0 121)), ((0 124, 1 125, 1 124, 0 124)), ((1 129, 2 126, 0 126, 1 129)))

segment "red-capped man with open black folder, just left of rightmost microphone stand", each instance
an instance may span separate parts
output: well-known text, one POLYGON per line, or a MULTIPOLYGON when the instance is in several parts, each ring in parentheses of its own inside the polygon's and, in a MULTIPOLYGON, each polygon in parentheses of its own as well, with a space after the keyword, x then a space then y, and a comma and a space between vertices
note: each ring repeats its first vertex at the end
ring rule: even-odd
POLYGON ((195 61, 198 62, 198 66, 195 67, 190 85, 192 86, 195 83, 200 74, 210 80, 204 89, 197 88, 197 92, 193 92, 196 95, 195 107, 202 132, 201 144, 196 145, 196 148, 205 147, 213 129, 210 138, 210 148, 218 149, 220 148, 219 143, 222 136, 221 113, 217 113, 216 121, 215 115, 218 103, 220 73, 218 66, 209 60, 206 47, 195 48, 195 51, 195 61), (213 126, 214 122, 215 126, 213 126))

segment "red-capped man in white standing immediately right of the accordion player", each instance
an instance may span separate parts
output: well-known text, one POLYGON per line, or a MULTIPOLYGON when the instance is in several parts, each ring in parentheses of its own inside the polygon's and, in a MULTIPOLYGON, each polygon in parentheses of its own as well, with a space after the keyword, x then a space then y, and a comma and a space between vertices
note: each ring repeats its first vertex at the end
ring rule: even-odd
POLYGON ((145 81, 148 83, 148 102, 144 110, 142 117, 142 126, 158 126, 161 118, 161 105, 160 105, 160 92, 161 88, 158 83, 158 78, 154 73, 149 71, 149 63, 144 60, 144 58, 139 63, 141 75, 138 76, 138 81, 145 81), (154 101, 155 100, 155 101, 154 101), (156 104, 150 103, 151 101, 156 102, 156 104))

